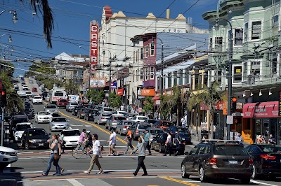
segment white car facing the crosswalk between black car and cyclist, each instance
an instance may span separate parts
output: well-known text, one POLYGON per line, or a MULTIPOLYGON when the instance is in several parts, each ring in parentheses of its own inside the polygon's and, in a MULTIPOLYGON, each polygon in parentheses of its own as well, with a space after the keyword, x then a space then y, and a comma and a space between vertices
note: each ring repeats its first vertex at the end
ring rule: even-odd
POLYGON ((65 147, 76 147, 80 136, 79 129, 65 129, 60 132, 63 135, 63 141, 65 141, 65 147))

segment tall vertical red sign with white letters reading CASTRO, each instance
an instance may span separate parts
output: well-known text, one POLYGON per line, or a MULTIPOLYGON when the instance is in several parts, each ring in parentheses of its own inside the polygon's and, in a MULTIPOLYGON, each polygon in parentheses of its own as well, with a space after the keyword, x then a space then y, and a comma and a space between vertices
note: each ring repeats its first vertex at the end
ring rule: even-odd
POLYGON ((90 69, 91 73, 96 71, 98 65, 98 22, 90 22, 90 69))

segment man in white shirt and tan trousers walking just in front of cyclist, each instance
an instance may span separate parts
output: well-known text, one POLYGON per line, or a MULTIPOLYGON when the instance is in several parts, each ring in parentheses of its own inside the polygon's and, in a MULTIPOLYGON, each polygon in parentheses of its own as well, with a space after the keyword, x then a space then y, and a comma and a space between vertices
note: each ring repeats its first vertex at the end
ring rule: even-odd
POLYGON ((103 174, 103 169, 100 166, 100 162, 98 162, 98 157, 101 153, 100 141, 98 141, 98 134, 93 134, 92 138, 93 138, 93 148, 89 150, 89 152, 93 151, 93 157, 91 159, 90 167, 88 171, 84 171, 84 173, 89 174, 93 169, 93 165, 96 163, 98 169, 100 170, 98 174, 103 174))

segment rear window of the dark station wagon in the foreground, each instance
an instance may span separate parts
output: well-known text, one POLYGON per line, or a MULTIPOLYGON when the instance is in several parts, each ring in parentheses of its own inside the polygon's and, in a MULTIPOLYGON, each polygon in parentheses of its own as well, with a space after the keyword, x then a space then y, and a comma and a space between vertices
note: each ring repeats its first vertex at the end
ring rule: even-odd
POLYGON ((214 146, 214 155, 248 155, 247 150, 240 145, 216 145, 214 146))

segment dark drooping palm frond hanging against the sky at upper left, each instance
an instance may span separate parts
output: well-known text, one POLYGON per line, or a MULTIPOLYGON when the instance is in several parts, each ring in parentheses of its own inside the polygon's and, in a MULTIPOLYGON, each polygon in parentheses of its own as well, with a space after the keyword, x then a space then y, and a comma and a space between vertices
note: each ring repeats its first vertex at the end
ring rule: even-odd
MULTIPOLYGON (((22 2, 22 0, 20 0, 22 2)), ((46 41, 48 43, 48 48, 52 48, 52 42, 51 42, 51 35, 53 31, 53 13, 48 5, 48 0, 30 0, 30 5, 32 6, 35 13, 38 11, 41 13, 43 17, 43 31, 44 36, 46 38, 46 41)))

